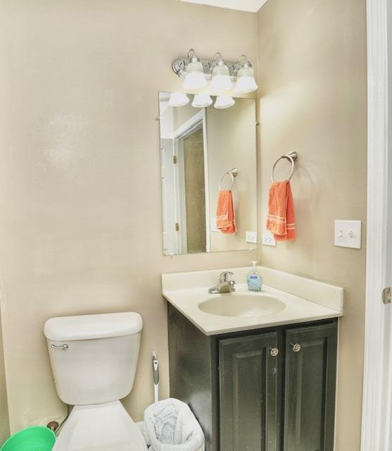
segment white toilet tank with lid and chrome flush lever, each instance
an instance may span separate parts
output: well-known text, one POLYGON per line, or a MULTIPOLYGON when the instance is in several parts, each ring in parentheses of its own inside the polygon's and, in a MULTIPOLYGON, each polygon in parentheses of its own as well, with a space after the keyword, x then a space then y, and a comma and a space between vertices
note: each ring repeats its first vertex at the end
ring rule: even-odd
POLYGON ((135 312, 46 321, 44 334, 61 400, 87 405, 127 396, 134 383, 142 327, 135 312))

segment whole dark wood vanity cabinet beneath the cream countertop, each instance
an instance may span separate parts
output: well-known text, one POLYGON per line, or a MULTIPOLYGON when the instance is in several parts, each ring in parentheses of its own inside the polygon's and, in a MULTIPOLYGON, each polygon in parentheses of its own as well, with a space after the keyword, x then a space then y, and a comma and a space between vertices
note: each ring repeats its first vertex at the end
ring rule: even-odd
POLYGON ((332 451, 337 320, 208 336, 169 304, 170 395, 206 451, 332 451))

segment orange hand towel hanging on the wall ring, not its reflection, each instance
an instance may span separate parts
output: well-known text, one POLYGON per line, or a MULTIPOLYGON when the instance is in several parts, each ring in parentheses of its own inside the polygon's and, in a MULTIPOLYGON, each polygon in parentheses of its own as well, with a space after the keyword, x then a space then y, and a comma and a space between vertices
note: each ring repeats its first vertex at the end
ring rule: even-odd
POLYGON ((289 180, 273 182, 268 198, 267 230, 277 241, 296 239, 296 214, 289 180))

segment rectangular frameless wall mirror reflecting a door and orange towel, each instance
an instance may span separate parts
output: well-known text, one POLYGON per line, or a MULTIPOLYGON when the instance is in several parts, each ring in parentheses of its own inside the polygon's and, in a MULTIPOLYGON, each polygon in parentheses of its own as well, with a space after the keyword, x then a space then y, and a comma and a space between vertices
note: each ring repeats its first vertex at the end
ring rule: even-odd
POLYGON ((197 109, 170 95, 159 94, 163 254, 257 248, 255 99, 197 109))

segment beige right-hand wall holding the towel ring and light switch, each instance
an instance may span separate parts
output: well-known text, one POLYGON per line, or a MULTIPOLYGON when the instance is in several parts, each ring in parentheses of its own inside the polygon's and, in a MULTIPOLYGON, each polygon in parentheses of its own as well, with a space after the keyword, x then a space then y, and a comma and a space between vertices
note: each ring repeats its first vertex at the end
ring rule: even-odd
MULTIPOLYGON (((293 149, 298 240, 263 247, 263 265, 346 288, 336 451, 360 449, 365 307, 362 250, 334 247, 334 219, 366 218, 365 0, 270 0, 258 13, 260 175, 293 149)), ((284 166, 284 163, 282 163, 284 166)))

